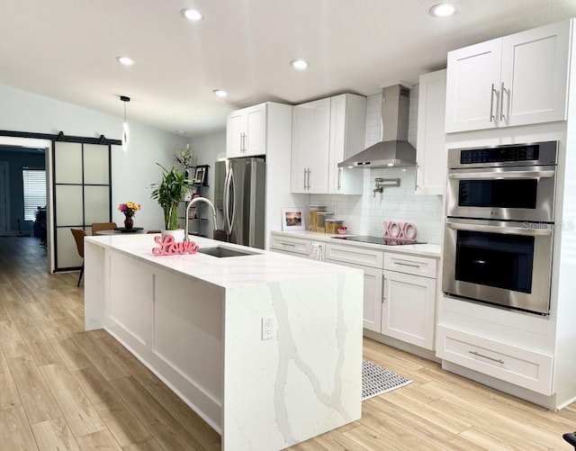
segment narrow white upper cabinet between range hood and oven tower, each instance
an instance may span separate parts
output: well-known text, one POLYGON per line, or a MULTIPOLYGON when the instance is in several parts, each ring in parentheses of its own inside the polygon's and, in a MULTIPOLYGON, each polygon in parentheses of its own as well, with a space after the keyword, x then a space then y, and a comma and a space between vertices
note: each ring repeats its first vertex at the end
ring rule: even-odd
POLYGON ((446 69, 420 77, 416 194, 446 191, 446 69))

